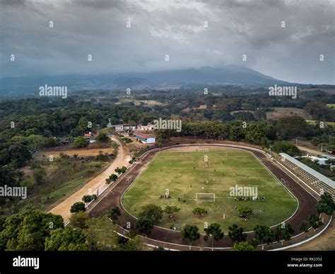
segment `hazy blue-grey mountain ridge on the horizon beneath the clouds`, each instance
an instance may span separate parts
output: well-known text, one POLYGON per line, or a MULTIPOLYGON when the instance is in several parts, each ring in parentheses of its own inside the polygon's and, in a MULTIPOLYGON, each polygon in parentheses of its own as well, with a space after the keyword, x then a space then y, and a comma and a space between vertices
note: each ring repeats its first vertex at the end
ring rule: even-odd
POLYGON ((6 77, 0 79, 0 97, 36 96, 40 86, 67 86, 74 90, 107 89, 179 89, 194 85, 236 85, 262 87, 288 85, 286 81, 274 79, 247 67, 225 66, 221 68, 177 69, 162 72, 121 73, 105 75, 60 75, 6 77))

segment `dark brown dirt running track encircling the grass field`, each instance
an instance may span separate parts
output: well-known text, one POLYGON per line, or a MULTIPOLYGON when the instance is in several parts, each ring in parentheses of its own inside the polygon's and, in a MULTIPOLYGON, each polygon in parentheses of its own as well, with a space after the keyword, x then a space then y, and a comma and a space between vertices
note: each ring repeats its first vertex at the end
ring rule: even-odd
MULTIPOLYGON (((180 144, 177 145, 177 147, 183 147, 183 146, 196 146, 201 147, 204 146, 210 146, 210 147, 231 147, 236 148, 236 146, 232 144, 218 144, 221 142, 215 142, 215 144, 180 144)), ((165 149, 169 149, 169 147, 165 147, 163 149, 153 149, 153 151, 146 152, 141 157, 141 161, 136 162, 129 171, 126 173, 126 176, 124 176, 122 179, 117 181, 115 183, 112 190, 110 190, 109 193, 105 194, 104 197, 100 198, 99 201, 92 207, 92 209, 89 212, 89 215, 91 217, 100 217, 102 215, 105 215, 108 210, 112 206, 118 206, 121 211, 122 215, 119 218, 119 228, 117 229, 117 232, 119 234, 124 234, 126 232, 126 224, 127 222, 131 223, 131 227, 134 226, 134 222, 136 221, 136 218, 129 215, 129 213, 124 209, 124 206, 122 205, 122 195, 123 193, 129 188, 131 183, 133 183, 137 176, 143 171, 143 169, 146 168, 148 163, 153 159, 153 157, 158 154, 158 152, 163 151, 165 149), (122 228, 123 227, 123 228, 122 228)), ((240 148, 241 149, 241 148, 240 148)), ((317 202, 317 198, 313 197, 312 194, 307 192, 305 188, 302 187, 299 183, 293 180, 290 176, 286 174, 285 171, 283 171, 278 164, 274 164, 271 159, 266 157, 266 154, 259 150, 254 150, 251 147, 244 147, 242 148, 248 152, 252 152, 254 156, 257 157, 261 161, 264 166, 266 166, 271 173, 278 178, 279 181, 281 181, 281 178, 283 178, 286 182, 288 182, 288 185, 286 185, 286 188, 290 190, 293 195, 298 199, 299 205, 298 210, 295 212, 293 217, 288 220, 290 224, 292 224, 293 229, 295 230, 295 234, 300 233, 299 231, 299 224, 300 222, 305 219, 308 220, 308 217, 310 214, 315 212, 315 203, 317 202)), ((248 233, 247 238, 252 239, 254 236, 254 233, 248 233)), ((146 242, 146 244, 152 244, 153 246, 164 246, 168 249, 176 249, 176 250, 189 250, 189 246, 187 246, 187 242, 182 241, 180 239, 180 232, 177 232, 175 230, 171 229, 164 229, 162 227, 154 227, 151 234, 149 235, 150 239, 143 238, 143 241, 146 242), (157 241, 164 241, 165 244, 161 243, 159 244, 157 241), (167 242, 167 244, 166 244, 167 242), (182 246, 180 246, 182 245, 182 246)), ((210 246, 211 241, 205 242, 203 240, 203 237, 201 237, 198 241, 195 241, 192 245, 193 250, 199 250, 202 249, 201 247, 204 246, 210 246), (196 247, 197 246, 197 247, 196 247)), ((214 243, 214 247, 230 247, 232 246, 232 242, 230 241, 230 238, 227 234, 223 237, 221 241, 217 241, 214 243)), ((280 247, 280 246, 277 246, 280 247)), ((269 249, 270 246, 267 246, 265 249, 269 249)))

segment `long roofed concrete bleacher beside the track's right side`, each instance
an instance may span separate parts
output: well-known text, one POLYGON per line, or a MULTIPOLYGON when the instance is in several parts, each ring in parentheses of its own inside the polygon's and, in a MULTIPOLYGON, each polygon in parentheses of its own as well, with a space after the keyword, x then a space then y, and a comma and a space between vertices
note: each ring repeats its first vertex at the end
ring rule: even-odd
POLYGON ((298 178, 314 188, 318 193, 324 192, 331 194, 335 199, 335 182, 323 174, 311 169, 309 166, 302 164, 286 153, 281 153, 281 163, 290 169, 298 178))

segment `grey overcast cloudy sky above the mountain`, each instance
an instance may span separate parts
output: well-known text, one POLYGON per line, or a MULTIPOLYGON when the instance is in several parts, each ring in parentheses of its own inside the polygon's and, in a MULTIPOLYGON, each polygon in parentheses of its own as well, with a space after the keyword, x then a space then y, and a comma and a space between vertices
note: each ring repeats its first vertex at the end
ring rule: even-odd
POLYGON ((237 64, 281 80, 335 84, 334 0, 0 3, 1 76, 237 64))

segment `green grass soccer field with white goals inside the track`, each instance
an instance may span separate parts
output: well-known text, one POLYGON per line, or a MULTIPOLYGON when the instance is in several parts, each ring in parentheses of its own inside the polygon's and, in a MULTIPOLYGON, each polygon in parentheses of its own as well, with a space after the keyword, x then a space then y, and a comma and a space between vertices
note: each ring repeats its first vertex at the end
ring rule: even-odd
POLYGON ((122 202, 134 216, 149 203, 163 209, 166 205, 180 207, 174 217, 163 217, 161 227, 196 224, 203 232, 204 222, 217 222, 225 233, 232 224, 244 227, 245 231, 257 224, 278 224, 290 217, 297 207, 295 198, 253 154, 220 147, 211 147, 208 151, 160 152, 124 194, 122 202), (257 187, 258 198, 265 200, 235 200, 230 195, 230 188, 235 185, 257 187), (160 198, 167 190, 171 198, 160 198), (196 201, 196 193, 215 193, 215 201, 196 201), (205 208, 208 213, 198 217, 192 213, 195 207, 205 208), (253 215, 241 219, 238 211, 241 207, 251 207, 253 215))

